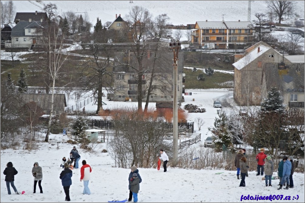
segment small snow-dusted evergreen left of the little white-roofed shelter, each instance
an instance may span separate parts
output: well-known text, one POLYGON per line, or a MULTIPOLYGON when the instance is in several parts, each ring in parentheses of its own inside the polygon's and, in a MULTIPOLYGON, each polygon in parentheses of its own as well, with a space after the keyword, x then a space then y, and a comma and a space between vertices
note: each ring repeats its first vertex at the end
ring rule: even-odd
POLYGON ((81 143, 81 148, 86 148, 90 143, 88 136, 85 132, 89 128, 87 120, 80 115, 77 115, 76 118, 70 123, 71 134, 75 136, 75 140, 81 143))

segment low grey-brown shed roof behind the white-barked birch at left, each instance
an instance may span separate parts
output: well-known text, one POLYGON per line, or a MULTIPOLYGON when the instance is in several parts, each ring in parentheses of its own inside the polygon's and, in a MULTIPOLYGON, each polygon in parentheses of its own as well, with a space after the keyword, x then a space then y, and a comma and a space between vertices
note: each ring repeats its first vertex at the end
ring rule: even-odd
MULTIPOLYGON (((42 110, 51 109, 51 97, 52 94, 20 94, 23 104, 29 102, 36 102, 42 110)), ((67 106, 65 94, 54 94, 54 111, 63 111, 67 106)))

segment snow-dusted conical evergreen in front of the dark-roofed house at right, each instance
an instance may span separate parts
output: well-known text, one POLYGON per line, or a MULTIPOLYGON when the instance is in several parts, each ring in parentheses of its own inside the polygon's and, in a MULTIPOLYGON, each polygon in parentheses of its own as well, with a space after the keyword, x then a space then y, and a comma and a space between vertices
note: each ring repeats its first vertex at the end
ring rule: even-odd
POLYGON ((277 88, 272 87, 268 91, 267 98, 263 98, 261 102, 261 110, 263 112, 279 112, 283 113, 285 111, 284 98, 282 92, 277 88))

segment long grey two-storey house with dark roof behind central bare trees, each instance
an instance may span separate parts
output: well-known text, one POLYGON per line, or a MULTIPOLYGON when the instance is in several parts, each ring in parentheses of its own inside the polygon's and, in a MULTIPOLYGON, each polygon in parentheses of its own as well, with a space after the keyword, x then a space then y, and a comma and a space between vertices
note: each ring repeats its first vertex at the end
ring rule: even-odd
MULTIPOLYGON (((114 91, 109 94, 112 101, 126 101, 131 99, 137 101, 138 95, 138 72, 136 58, 133 53, 128 52, 116 57, 119 62, 115 62, 113 67, 114 91), (120 65, 121 64, 121 65, 120 65), (135 68, 132 68, 135 67, 135 68)), ((145 72, 142 77, 142 91, 144 93, 143 101, 146 95, 150 81, 152 80, 152 93, 150 102, 170 102, 173 100, 173 53, 162 53, 158 56, 155 63, 155 69, 152 71, 154 53, 148 52, 143 60, 142 66, 145 72), (153 72, 153 77, 152 77, 153 72)), ((179 55, 178 60, 178 100, 182 99, 183 78, 183 55, 179 55)), ((183 92, 184 93, 184 92, 183 92)))

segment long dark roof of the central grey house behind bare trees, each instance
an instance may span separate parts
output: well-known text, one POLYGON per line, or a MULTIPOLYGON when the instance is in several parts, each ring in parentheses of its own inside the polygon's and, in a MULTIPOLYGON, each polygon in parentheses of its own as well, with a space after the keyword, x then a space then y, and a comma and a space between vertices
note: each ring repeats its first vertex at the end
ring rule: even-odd
MULTIPOLYGON (((147 53, 148 55, 148 53, 147 53)), ((149 53, 150 57, 147 58, 147 56, 144 56, 145 59, 143 60, 143 68, 147 69, 145 71, 146 73, 151 72, 152 63, 154 59, 154 53, 149 53)), ((128 54, 124 53, 117 53, 116 57, 114 57, 114 60, 119 60, 120 63, 126 64, 128 61, 130 62, 130 66, 137 67, 137 59, 135 58, 134 53, 130 53, 130 60, 128 60, 128 54)), ((157 56, 156 60, 156 68, 155 73, 173 73, 173 58, 174 54, 173 52, 163 52, 162 54, 159 54, 157 56)), ((183 73, 183 53, 179 53, 178 56, 178 73, 183 73)), ((136 73, 137 71, 132 69, 130 66, 127 65, 119 65, 118 62, 115 62, 115 66, 113 67, 113 72, 125 72, 125 73, 136 73)))

